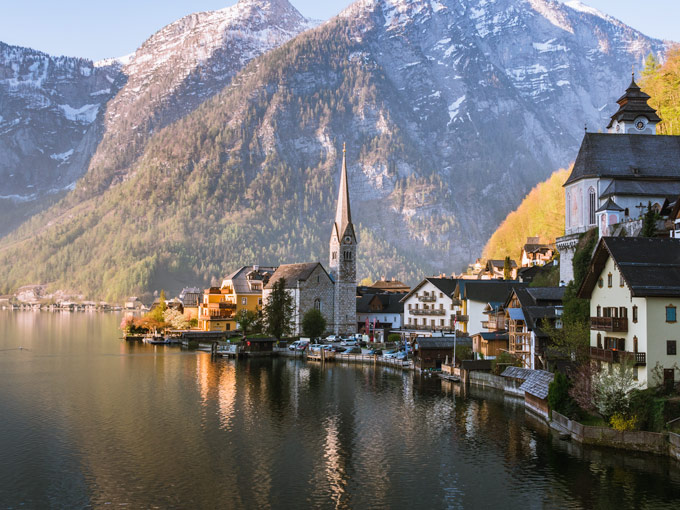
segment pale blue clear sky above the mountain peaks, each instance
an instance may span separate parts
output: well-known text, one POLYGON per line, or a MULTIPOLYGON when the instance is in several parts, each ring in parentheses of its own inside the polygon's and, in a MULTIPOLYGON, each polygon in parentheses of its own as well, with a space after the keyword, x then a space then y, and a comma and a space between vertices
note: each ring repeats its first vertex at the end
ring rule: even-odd
MULTIPOLYGON (((352 0, 290 0, 305 16, 325 20, 352 0)), ((680 41, 680 0, 582 0, 642 33, 680 41)), ((52 55, 99 60, 133 53, 150 35, 192 12, 235 0, 4 0, 0 41, 52 55)))

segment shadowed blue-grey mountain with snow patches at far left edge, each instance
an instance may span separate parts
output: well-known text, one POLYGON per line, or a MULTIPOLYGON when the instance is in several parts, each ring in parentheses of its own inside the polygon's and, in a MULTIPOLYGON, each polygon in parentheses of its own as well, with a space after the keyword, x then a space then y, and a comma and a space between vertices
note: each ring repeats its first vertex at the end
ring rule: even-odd
POLYGON ((117 66, 0 42, 0 235, 82 176, 122 81, 117 66))

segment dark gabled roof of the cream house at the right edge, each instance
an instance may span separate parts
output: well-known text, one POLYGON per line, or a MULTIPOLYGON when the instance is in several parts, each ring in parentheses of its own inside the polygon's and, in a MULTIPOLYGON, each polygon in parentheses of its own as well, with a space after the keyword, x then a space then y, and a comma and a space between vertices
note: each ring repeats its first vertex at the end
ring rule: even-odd
POLYGON ((609 257, 633 297, 680 296, 680 239, 603 237, 578 291, 579 297, 590 299, 609 257))

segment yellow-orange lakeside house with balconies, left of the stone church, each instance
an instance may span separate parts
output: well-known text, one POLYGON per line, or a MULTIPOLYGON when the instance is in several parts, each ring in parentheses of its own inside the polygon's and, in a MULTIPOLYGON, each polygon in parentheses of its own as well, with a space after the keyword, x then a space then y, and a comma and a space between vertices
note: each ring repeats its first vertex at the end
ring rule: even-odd
POLYGON ((203 331, 235 331, 235 316, 241 310, 262 308, 262 289, 275 267, 243 266, 222 280, 222 285, 206 289, 199 306, 198 326, 203 331))

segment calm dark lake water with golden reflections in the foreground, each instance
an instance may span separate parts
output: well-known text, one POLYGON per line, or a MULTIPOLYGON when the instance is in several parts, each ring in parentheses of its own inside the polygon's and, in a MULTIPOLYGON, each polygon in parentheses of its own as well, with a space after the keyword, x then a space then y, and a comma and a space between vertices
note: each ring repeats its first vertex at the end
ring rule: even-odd
POLYGON ((679 464, 559 441, 497 392, 213 361, 120 320, 0 311, 0 508, 680 508, 679 464))

